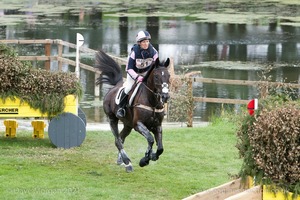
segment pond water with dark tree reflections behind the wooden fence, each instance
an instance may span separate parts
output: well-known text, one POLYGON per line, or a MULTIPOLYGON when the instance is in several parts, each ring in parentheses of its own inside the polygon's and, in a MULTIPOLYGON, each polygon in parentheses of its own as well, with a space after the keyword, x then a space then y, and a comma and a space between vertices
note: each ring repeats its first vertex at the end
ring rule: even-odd
MULTIPOLYGON (((300 82, 298 26, 278 21, 217 23, 201 21, 191 15, 149 15, 149 11, 147 15, 130 15, 90 7, 88 10, 65 8, 54 14, 37 13, 32 5, 23 10, 1 10, 0 7, 0 39, 61 39, 75 43, 76 33, 81 33, 85 47, 126 57, 135 43, 136 33, 148 30, 160 58, 172 57, 178 74, 200 70, 205 78, 260 80, 259 72, 271 67, 269 75, 273 81, 300 82), (12 18, 18 20, 11 22, 12 18)), ((86 60, 94 62, 93 58, 86 60)), ((94 74, 82 70, 81 80, 85 95, 80 106, 88 121, 105 120, 101 97, 94 97, 94 74)), ((257 97, 258 91, 251 86, 197 83, 194 95, 252 99, 257 97)), ((221 107, 220 104, 197 103, 195 120, 207 121, 221 107)), ((239 105, 229 107, 240 108, 239 105)))

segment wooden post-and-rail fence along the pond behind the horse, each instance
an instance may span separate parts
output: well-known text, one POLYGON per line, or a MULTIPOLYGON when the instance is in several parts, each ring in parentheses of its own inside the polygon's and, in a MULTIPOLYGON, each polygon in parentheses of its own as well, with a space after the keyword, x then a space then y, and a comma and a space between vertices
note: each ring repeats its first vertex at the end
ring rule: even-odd
MULTIPOLYGON (((68 64, 71 66, 75 66, 75 61, 64 58, 63 57, 63 48, 70 48, 76 50, 76 45, 65 42, 62 40, 52 40, 52 39, 45 39, 45 40, 0 40, 0 43, 4 44, 22 44, 22 45, 44 45, 45 48, 45 55, 43 56, 19 56, 20 60, 26 60, 26 61, 45 61, 45 69, 50 69, 50 62, 51 61, 58 61, 58 68, 59 70, 62 69, 62 64, 68 64), (51 56, 51 49, 53 48, 53 45, 57 45, 57 53, 55 56, 51 56)), ((81 46, 79 49, 80 53, 91 53, 95 54, 97 51, 93 49, 89 49, 86 47, 81 46)), ((119 58, 113 55, 110 55, 118 64, 125 65, 126 59, 119 58)), ((100 72, 97 71, 94 67, 80 63, 79 67, 88 71, 92 71, 95 73, 95 79, 97 79, 100 75, 100 72)), ((174 70, 174 64, 171 59, 171 69, 174 70)), ((175 75, 174 71, 171 73, 173 74, 174 79, 179 79, 180 77, 175 75)), ((269 86, 282 86, 282 85, 288 85, 291 88, 300 88, 300 84, 291 84, 291 83, 282 83, 282 82, 263 82, 263 81, 248 81, 248 80, 228 80, 228 79, 215 79, 215 78, 200 78, 200 77, 189 77, 188 79, 188 86, 189 90, 191 90, 190 95, 193 94, 193 83, 211 83, 211 84, 223 84, 223 85, 245 85, 245 86, 257 86, 258 84, 268 84, 269 86)), ((95 96, 99 96, 99 87, 95 87, 95 96)), ((267 91, 265 91, 267 92, 267 91)), ((249 102, 248 99, 224 99, 224 98, 207 98, 207 97, 191 97, 194 102, 210 102, 210 103, 222 103, 222 104, 246 104, 249 102)), ((193 124, 193 109, 190 109, 188 112, 188 126, 192 126, 193 124)))

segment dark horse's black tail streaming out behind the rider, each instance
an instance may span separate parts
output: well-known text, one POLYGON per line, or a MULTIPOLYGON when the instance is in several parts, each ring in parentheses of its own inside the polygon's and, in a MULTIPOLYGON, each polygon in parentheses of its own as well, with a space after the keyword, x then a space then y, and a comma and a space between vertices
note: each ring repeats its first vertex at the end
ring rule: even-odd
POLYGON ((95 68, 101 71, 101 76, 96 80, 96 84, 117 85, 123 81, 121 67, 104 51, 96 53, 95 68))

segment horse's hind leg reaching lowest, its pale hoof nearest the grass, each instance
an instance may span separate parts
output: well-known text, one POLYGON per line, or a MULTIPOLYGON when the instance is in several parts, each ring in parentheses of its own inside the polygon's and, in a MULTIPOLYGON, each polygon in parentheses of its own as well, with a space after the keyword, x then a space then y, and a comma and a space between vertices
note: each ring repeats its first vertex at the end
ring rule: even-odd
POLYGON ((119 136, 118 119, 116 119, 116 120, 109 119, 109 124, 110 124, 111 131, 115 136, 115 145, 119 150, 119 156, 121 157, 122 161, 125 164, 126 171, 131 172, 133 170, 131 161, 130 161, 129 157, 127 156, 127 153, 124 150, 123 141, 122 141, 121 137, 119 136))

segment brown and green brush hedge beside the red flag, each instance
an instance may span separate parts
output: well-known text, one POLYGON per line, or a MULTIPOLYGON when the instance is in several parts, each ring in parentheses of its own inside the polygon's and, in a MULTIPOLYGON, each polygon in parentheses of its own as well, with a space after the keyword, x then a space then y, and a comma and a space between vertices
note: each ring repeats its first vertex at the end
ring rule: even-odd
POLYGON ((240 175, 296 197, 300 194, 300 101, 294 100, 298 94, 289 85, 264 83, 259 85, 263 97, 259 109, 254 116, 245 114, 237 131, 243 158, 240 175))

